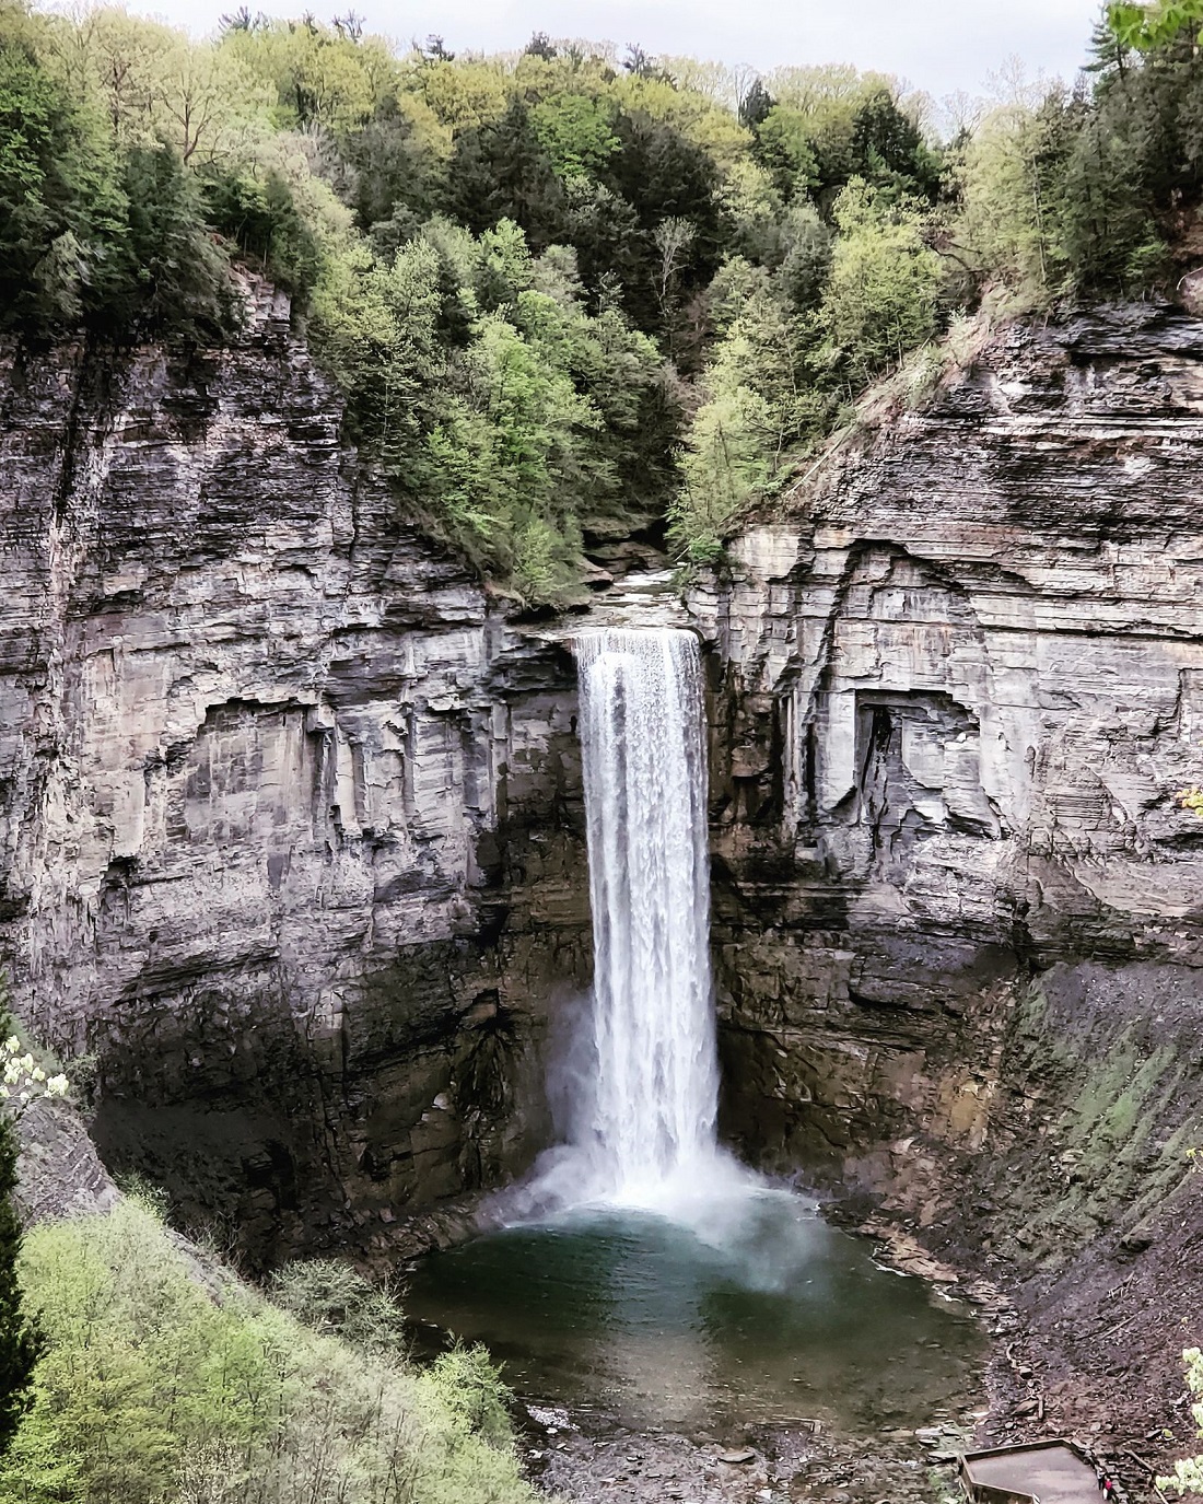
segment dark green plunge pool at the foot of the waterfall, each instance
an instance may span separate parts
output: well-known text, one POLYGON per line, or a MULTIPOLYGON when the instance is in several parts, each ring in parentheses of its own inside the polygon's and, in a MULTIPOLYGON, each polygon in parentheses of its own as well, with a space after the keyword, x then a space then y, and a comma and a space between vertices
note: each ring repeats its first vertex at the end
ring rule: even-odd
POLYGON ((976 1391, 980 1327, 783 1191, 683 1226, 579 1209, 414 1272, 420 1322, 484 1342, 525 1397, 638 1426, 917 1426, 976 1391))

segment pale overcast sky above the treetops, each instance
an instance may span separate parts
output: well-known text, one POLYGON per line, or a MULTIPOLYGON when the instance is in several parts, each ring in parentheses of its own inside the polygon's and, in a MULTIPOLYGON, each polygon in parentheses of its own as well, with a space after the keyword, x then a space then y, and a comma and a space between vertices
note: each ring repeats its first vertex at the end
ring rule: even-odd
MULTIPOLYGON (((239 0, 132 0, 191 30, 217 26, 239 0)), ((898 74, 937 98, 980 93, 1008 56, 1072 81, 1098 0, 248 0, 269 15, 355 9, 400 41, 438 33, 453 50, 507 51, 532 32, 586 36, 650 53, 690 53, 768 69, 856 63, 898 74)))

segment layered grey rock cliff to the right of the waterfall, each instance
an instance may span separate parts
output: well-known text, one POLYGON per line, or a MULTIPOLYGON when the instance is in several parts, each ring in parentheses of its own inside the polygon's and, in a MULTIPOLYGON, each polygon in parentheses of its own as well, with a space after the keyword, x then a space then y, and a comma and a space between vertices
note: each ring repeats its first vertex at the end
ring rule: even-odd
MULTIPOLYGON (((1071 1166, 1111 1131, 1107 1175, 1182 1181, 1200 460, 1203 325, 1146 307, 1012 329, 836 451, 695 593, 725 1107, 747 1152, 925 1223, 971 1194, 950 1161, 1006 1200, 1017 1166, 1071 1166)), ((1083 1173, 1053 1181, 1083 1202, 1083 1173)), ((1117 1215, 1113 1191, 1074 1238, 1117 1215)), ((1014 1248, 991 1196, 986 1248, 1014 1248)))

